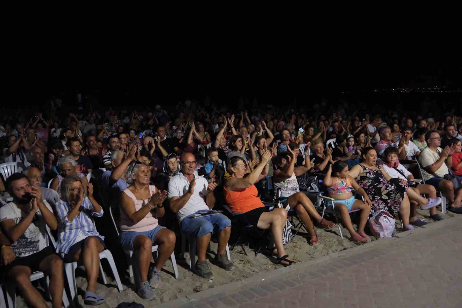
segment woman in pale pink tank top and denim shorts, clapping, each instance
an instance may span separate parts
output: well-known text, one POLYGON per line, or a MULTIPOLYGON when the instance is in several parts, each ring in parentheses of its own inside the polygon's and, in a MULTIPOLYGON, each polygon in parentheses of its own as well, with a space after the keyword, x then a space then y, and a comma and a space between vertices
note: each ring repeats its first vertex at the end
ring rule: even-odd
POLYGON ((167 191, 159 191, 156 186, 149 185, 151 169, 145 163, 136 162, 128 167, 125 178, 131 185, 121 193, 120 240, 124 249, 138 254, 140 282, 137 294, 146 301, 152 301, 156 298, 154 289, 160 283, 160 270, 175 248, 175 233, 159 226, 157 219, 164 216, 163 202, 167 191), (159 246, 158 258, 148 281, 152 245, 159 246))

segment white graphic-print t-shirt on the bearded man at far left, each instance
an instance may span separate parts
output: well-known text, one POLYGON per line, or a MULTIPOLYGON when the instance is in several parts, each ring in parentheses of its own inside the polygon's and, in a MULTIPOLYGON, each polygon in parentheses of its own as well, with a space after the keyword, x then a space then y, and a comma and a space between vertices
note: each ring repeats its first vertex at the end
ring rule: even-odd
MULTIPOLYGON (((43 200, 43 203, 53 213, 53 209, 51 209, 49 203, 46 200, 43 200)), ((22 214, 21 209, 14 202, 10 202, 0 208, 0 221, 12 219, 18 224, 23 219, 22 214)), ((40 210, 38 210, 29 227, 17 241, 12 243, 11 248, 16 257, 26 257, 38 253, 47 246, 48 236, 45 228, 45 220, 40 210)))

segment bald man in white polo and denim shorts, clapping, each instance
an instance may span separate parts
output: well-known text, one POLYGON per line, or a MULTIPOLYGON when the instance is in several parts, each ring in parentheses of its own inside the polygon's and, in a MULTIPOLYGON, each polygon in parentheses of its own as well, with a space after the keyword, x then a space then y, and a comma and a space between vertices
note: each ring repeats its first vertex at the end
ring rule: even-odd
POLYGON ((215 264, 226 271, 234 269, 234 265, 226 258, 225 249, 231 234, 231 221, 223 214, 196 217, 192 215, 213 209, 215 196, 213 190, 216 183, 208 184, 207 179, 195 175, 196 159, 191 153, 183 153, 180 158, 181 173, 169 181, 168 198, 170 209, 176 213, 180 221, 181 231, 187 236, 195 236, 197 262, 196 274, 205 279, 213 279, 213 273, 205 259, 207 246, 214 228, 218 228, 218 252, 215 264))

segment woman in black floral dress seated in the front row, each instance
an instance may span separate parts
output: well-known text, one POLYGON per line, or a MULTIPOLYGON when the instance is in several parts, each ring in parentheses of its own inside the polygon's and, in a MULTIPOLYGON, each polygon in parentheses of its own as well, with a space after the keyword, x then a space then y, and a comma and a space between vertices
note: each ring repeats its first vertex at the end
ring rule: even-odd
POLYGON ((369 196, 372 202, 371 216, 381 209, 393 217, 400 215, 405 231, 414 227, 409 224, 410 203, 406 191, 408 185, 400 179, 392 179, 377 165, 377 152, 367 147, 362 152, 363 162, 353 166, 350 176, 356 179, 369 196))

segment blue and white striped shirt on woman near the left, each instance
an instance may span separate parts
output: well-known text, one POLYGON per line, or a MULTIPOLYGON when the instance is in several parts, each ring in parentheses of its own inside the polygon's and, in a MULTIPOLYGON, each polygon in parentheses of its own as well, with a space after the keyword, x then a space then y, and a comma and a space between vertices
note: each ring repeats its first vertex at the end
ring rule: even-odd
POLYGON ((77 243, 80 232, 82 232, 85 237, 97 236, 104 240, 104 236, 99 235, 93 223, 93 216, 103 216, 103 208, 101 208, 99 213, 94 212, 93 205, 90 200, 88 200, 88 197, 85 197, 80 207, 80 215, 76 215, 73 221, 69 222, 67 214, 71 209, 68 207, 67 202, 60 200, 56 203, 56 211, 59 218, 56 253, 67 253, 69 248, 77 243))

